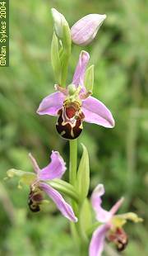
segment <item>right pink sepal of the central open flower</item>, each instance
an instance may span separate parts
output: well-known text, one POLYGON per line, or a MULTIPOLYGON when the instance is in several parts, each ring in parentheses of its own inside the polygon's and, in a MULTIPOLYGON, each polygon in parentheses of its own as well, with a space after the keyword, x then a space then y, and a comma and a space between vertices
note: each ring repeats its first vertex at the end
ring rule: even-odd
POLYGON ((112 113, 95 97, 87 97, 86 100, 82 102, 81 109, 85 115, 86 122, 107 128, 113 128, 114 120, 112 113))

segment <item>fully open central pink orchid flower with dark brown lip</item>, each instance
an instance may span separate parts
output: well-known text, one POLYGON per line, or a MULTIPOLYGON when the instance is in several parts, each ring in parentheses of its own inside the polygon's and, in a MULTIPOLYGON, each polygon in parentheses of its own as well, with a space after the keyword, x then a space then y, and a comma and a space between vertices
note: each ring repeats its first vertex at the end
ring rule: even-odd
POLYGON ((81 134, 83 121, 107 128, 114 126, 109 109, 86 90, 84 79, 89 59, 90 55, 81 51, 72 84, 67 88, 56 85, 58 92, 45 97, 37 110, 39 115, 58 116, 58 133, 68 140, 76 139, 81 134))

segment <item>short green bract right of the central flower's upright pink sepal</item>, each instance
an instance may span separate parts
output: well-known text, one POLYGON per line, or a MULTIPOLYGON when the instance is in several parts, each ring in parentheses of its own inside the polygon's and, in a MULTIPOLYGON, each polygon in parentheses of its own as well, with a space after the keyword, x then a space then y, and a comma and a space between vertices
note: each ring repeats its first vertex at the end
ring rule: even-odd
POLYGON ((94 86, 94 65, 91 65, 88 69, 86 69, 85 86, 86 86, 86 90, 88 92, 93 92, 93 86, 94 86))

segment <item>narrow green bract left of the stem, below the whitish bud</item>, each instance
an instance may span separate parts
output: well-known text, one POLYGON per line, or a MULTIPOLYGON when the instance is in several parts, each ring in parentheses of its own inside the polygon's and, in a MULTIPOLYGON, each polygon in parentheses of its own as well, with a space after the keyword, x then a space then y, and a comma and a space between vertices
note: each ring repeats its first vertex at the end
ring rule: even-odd
POLYGON ((51 44, 51 63, 53 66, 53 72, 57 83, 61 84, 61 61, 58 50, 58 37, 53 32, 53 40, 51 44))

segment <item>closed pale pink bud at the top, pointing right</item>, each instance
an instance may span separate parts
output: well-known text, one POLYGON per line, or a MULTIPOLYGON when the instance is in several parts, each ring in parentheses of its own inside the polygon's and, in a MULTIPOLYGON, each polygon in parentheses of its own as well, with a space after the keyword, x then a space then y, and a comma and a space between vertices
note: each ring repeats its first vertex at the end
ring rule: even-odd
POLYGON ((89 45, 94 40, 105 18, 105 14, 89 14, 82 17, 71 28, 73 43, 76 45, 89 45))

